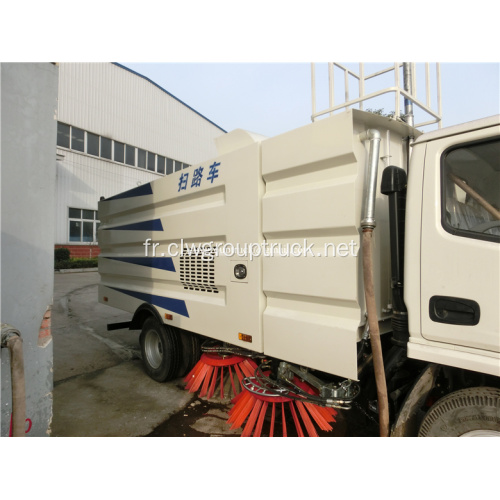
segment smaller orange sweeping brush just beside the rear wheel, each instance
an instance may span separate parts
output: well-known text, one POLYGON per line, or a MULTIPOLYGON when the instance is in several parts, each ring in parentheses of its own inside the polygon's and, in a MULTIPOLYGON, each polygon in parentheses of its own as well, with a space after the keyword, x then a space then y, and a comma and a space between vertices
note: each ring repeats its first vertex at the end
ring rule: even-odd
POLYGON ((217 386, 220 386, 220 398, 224 399, 224 385, 231 380, 233 395, 237 396, 244 377, 251 377, 257 365, 252 359, 244 356, 223 356, 217 353, 203 353, 194 368, 187 374, 184 382, 189 392, 200 390, 200 397, 210 399, 217 386), (219 370, 220 368, 220 370, 219 370), (226 370, 224 370, 224 368, 226 370), (234 373, 233 373, 234 370, 234 373), (236 380, 235 376, 236 375, 236 380))

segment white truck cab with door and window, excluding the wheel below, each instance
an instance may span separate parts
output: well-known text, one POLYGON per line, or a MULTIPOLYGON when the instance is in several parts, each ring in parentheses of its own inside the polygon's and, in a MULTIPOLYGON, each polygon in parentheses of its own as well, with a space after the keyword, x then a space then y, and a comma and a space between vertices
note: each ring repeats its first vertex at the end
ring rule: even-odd
POLYGON ((499 117, 418 138, 407 207, 408 355, 499 376, 499 117))

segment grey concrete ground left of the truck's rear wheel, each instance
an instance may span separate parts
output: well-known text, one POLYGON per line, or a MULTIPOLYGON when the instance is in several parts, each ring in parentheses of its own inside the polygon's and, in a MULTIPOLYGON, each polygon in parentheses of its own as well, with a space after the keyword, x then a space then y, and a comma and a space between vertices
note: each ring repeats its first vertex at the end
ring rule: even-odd
MULTIPOLYGON (((55 274, 52 436, 146 436, 160 424, 160 435, 190 435, 179 425, 169 434, 165 422, 203 405, 181 380, 160 384, 144 373, 139 332, 106 330, 131 315, 97 302, 98 281, 97 272, 55 274)), ((192 435, 234 434, 220 411, 191 419, 192 435)))

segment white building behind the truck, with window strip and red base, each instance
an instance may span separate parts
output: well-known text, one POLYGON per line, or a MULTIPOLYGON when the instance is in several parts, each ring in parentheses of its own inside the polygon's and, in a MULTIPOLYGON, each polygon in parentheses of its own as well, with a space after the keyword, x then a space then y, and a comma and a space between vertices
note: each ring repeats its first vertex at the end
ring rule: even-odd
POLYGON ((95 257, 97 203, 216 156, 225 130, 112 63, 60 63, 56 248, 95 257))

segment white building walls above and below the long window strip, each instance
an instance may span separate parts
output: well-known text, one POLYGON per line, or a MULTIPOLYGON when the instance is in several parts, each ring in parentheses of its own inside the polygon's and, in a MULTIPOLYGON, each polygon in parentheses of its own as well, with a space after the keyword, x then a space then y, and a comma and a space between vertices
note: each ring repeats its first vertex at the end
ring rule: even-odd
MULTIPOLYGON (((61 63, 58 121, 186 164, 215 157, 224 131, 147 79, 111 63, 61 63)), ((56 243, 68 242, 68 207, 97 209, 161 175, 58 148, 56 243)))

